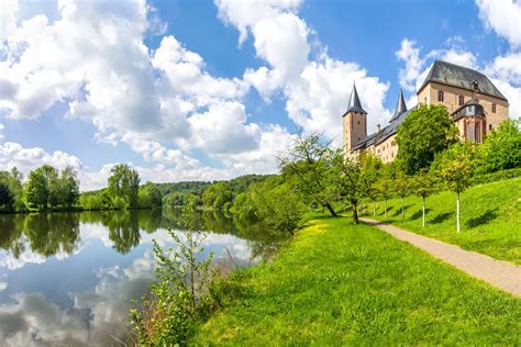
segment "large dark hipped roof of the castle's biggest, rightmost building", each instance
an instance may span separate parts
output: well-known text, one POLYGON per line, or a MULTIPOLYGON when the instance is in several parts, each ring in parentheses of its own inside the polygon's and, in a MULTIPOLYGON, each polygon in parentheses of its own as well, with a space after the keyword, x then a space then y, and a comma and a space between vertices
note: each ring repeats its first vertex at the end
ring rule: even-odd
POLYGON ((418 92, 420 92, 420 90, 422 90, 429 82, 439 82, 474 90, 473 82, 475 81, 477 81, 477 86, 479 88, 478 92, 508 101, 507 98, 505 98, 505 96, 499 91, 499 89, 497 89, 496 86, 494 86, 494 83, 484 74, 467 67, 442 60, 434 61, 429 75, 426 76, 420 89, 418 89, 418 92))

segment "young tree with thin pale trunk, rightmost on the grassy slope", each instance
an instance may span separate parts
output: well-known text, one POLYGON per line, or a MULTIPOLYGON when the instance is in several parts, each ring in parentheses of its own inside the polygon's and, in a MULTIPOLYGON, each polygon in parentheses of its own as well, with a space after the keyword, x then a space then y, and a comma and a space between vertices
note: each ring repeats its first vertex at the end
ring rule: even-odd
POLYGON ((470 186, 474 171, 473 147, 469 144, 455 144, 446 150, 440 160, 440 176, 446 187, 456 192, 456 220, 459 233, 459 193, 470 186))

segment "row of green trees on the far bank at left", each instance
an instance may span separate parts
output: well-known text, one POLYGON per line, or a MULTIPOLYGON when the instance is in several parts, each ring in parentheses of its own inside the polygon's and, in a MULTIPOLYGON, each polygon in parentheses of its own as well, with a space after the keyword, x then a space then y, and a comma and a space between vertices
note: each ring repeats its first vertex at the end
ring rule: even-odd
POLYGON ((58 170, 43 165, 30 171, 26 181, 20 170, 12 168, 0 171, 0 212, 162 206, 158 187, 140 182, 136 170, 118 164, 111 169, 107 188, 80 194, 77 172, 71 167, 58 170))

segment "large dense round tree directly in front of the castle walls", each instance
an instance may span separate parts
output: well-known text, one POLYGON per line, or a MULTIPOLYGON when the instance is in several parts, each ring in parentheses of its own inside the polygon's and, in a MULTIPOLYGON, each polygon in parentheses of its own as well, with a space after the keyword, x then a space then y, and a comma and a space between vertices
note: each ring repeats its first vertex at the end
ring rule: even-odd
POLYGON ((457 128, 443 105, 423 105, 398 126, 398 156, 407 175, 429 168, 436 153, 457 142, 457 128))

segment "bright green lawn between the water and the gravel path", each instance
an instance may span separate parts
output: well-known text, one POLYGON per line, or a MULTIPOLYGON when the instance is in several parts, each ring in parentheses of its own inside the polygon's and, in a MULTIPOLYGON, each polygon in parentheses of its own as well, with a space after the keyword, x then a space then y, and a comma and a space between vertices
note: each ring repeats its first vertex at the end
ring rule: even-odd
POLYGON ((311 222, 226 292, 195 343, 521 344, 520 299, 347 219, 311 222))

